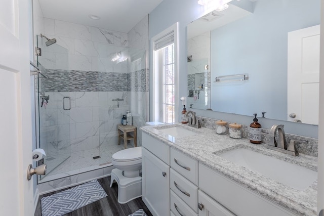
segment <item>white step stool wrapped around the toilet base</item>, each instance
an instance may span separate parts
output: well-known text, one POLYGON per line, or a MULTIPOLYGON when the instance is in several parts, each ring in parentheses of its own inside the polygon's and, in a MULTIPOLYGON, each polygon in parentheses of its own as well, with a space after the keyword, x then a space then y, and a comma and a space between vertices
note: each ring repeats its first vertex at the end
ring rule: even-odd
POLYGON ((110 187, 113 182, 118 185, 118 203, 125 204, 142 196, 142 177, 127 178, 120 169, 111 170, 110 187))

